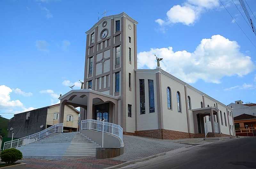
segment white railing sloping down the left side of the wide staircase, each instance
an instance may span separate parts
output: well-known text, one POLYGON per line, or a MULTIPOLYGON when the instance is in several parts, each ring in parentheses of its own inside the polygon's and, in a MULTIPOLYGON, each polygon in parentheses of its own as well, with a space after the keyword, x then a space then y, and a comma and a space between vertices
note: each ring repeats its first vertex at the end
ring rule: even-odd
POLYGON ((11 149, 15 147, 20 147, 22 145, 29 144, 31 142, 35 142, 37 140, 40 140, 52 133, 57 133, 57 132, 63 132, 63 123, 55 124, 49 128, 46 128, 38 133, 28 135, 23 138, 19 138, 13 141, 5 142, 4 143, 4 150, 5 149, 11 149))

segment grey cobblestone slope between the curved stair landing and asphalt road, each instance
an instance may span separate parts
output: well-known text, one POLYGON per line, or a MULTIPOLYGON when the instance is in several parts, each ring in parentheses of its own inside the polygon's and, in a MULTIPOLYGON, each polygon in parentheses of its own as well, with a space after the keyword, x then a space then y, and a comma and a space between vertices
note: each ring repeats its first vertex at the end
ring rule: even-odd
POLYGON ((113 158, 115 160, 133 161, 188 146, 186 144, 175 143, 173 140, 152 139, 131 135, 124 135, 123 139, 124 154, 113 158))

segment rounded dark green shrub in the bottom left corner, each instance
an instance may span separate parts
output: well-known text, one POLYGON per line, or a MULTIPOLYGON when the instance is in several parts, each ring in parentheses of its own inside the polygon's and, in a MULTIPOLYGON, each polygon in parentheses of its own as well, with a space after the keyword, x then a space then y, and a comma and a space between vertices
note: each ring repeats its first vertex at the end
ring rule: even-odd
POLYGON ((22 153, 17 149, 6 149, 0 154, 1 161, 12 164, 22 159, 22 153))

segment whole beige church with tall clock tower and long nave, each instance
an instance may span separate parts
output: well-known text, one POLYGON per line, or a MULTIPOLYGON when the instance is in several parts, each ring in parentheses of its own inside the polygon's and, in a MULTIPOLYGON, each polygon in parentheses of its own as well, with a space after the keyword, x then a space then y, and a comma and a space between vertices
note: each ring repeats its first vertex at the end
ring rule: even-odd
POLYGON ((159 139, 235 135, 232 108, 159 65, 137 68, 137 24, 122 12, 103 17, 86 32, 84 86, 60 96, 59 122, 65 105, 72 105, 80 107, 79 124, 105 121, 120 125, 124 134, 159 139))

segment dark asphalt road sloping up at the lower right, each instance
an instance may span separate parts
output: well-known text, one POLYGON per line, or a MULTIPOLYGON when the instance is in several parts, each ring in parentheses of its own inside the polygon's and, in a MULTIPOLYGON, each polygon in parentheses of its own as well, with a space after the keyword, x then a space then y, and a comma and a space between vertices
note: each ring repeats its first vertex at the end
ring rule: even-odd
MULTIPOLYGON (((256 168, 256 137, 182 148, 164 156, 127 165, 129 169, 252 169, 256 168)), ((122 169, 123 169, 122 168, 122 169)))

